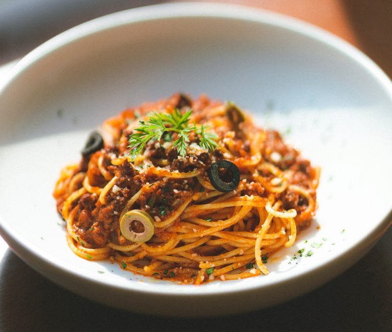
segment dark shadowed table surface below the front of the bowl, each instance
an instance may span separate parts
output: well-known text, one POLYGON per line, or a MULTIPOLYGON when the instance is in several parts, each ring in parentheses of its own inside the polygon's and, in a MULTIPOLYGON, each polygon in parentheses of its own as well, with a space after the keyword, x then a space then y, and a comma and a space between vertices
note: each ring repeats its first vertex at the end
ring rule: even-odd
POLYGON ((0 330, 390 331, 391 262, 392 227, 354 267, 295 300, 238 316, 175 319, 129 313, 84 299, 45 279, 8 250, 0 265, 0 330))

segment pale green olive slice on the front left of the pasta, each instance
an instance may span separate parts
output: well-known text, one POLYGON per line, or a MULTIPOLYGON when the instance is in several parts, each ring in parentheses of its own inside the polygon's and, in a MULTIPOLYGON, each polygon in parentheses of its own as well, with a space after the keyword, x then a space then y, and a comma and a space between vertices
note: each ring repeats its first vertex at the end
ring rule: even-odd
POLYGON ((141 210, 128 211, 120 220, 122 236, 132 242, 149 241, 155 231, 154 220, 141 210))

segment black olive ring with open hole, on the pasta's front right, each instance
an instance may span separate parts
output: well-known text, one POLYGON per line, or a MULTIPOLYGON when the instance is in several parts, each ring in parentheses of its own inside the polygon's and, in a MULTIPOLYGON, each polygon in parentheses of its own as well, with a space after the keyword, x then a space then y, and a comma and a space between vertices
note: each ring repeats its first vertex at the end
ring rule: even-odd
POLYGON ((207 171, 210 178, 211 185, 218 191, 229 192, 238 187, 239 184, 239 169, 228 160, 219 160, 213 163, 207 171), (224 168, 230 173, 231 181, 223 181, 219 176, 219 169, 224 168))

